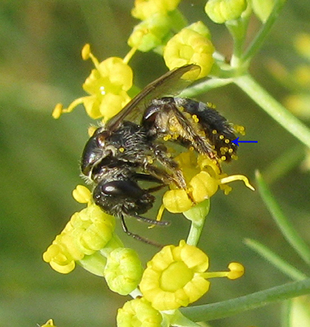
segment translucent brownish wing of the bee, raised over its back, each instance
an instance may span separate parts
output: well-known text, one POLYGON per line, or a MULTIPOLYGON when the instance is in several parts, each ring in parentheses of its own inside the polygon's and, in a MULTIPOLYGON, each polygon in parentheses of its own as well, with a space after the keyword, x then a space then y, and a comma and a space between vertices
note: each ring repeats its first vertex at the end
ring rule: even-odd
POLYGON ((151 82, 137 94, 135 98, 132 98, 132 100, 121 109, 119 114, 112 117, 110 121, 107 122, 106 128, 112 131, 115 130, 125 118, 126 120, 140 123, 142 116, 141 112, 144 112, 144 109, 146 109, 151 100, 161 98, 162 96, 175 96, 193 82, 194 78, 189 80, 187 76, 184 76, 189 71, 197 77, 200 73, 200 67, 196 64, 187 64, 175 68, 172 71, 168 71, 162 77, 151 82), (140 121, 137 121, 138 117, 140 121))

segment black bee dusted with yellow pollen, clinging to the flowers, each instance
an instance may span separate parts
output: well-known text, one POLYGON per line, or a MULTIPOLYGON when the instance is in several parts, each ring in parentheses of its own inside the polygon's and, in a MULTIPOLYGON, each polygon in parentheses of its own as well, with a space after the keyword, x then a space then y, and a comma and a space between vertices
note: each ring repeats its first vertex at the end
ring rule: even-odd
POLYGON ((87 141, 81 159, 82 173, 94 184, 94 202, 120 218, 129 236, 155 244, 128 230, 125 219, 149 224, 169 222, 142 216, 155 201, 152 194, 174 184, 186 189, 182 171, 166 147, 166 141, 193 148, 218 162, 234 158, 234 129, 210 105, 189 98, 173 97, 198 73, 196 64, 174 69, 147 85, 121 112, 98 127, 87 141), (141 182, 156 186, 143 188, 141 182))

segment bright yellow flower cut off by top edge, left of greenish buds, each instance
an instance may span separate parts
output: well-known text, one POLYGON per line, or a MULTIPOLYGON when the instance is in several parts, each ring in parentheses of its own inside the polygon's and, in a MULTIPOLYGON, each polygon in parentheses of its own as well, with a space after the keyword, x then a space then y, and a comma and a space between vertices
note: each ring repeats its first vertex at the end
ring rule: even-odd
POLYGON ((181 0, 135 0, 135 8, 131 15, 137 19, 145 20, 148 17, 160 13, 166 15, 175 10, 181 0))

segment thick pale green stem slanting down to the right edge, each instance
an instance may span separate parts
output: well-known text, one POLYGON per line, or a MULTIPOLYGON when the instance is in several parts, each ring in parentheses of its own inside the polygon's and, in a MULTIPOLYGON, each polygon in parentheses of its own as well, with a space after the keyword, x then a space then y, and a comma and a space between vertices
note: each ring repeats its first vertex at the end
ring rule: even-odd
POLYGON ((277 102, 249 74, 234 78, 234 82, 267 112, 277 123, 310 148, 310 130, 283 105, 277 102))

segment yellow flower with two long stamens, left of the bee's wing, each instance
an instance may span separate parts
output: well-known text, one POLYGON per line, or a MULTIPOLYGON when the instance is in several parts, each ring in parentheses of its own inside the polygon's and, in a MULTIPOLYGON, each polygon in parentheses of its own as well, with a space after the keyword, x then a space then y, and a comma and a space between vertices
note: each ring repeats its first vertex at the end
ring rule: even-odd
POLYGON ((103 118, 107 121, 130 101, 127 91, 132 87, 132 69, 128 66, 128 60, 112 57, 103 62, 98 62, 90 52, 89 44, 82 51, 83 59, 91 58, 95 69, 83 84, 83 89, 89 96, 78 98, 63 109, 62 105, 56 105, 53 117, 59 118, 62 113, 71 112, 77 105, 83 104, 87 114, 94 119, 103 118))

